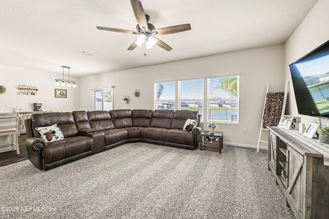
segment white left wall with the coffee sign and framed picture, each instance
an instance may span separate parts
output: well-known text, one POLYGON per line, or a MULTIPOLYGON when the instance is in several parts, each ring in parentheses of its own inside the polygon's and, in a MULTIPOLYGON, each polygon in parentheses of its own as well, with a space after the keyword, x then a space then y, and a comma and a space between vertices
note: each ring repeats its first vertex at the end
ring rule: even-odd
MULTIPOLYGON (((0 72, 0 85, 6 87, 6 93, 0 94, 0 112, 13 112, 16 106, 22 107, 23 111, 33 111, 33 103, 42 103, 44 111, 74 111, 79 107, 79 78, 71 77, 77 82, 77 88, 63 88, 54 85, 55 79, 62 78, 62 74, 1 64, 0 72), (38 95, 19 95, 17 88, 20 84, 36 86, 39 89, 38 95), (55 98, 55 88, 67 89, 67 98, 55 98)), ((59 67, 59 73, 61 72, 62 68, 59 67)))

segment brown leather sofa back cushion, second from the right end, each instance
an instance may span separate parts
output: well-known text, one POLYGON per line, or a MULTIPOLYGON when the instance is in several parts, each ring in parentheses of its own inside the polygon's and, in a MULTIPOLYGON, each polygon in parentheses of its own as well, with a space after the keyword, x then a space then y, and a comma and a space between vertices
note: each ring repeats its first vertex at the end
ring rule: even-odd
POLYGON ((174 110, 154 110, 151 127, 170 129, 173 116, 174 110))

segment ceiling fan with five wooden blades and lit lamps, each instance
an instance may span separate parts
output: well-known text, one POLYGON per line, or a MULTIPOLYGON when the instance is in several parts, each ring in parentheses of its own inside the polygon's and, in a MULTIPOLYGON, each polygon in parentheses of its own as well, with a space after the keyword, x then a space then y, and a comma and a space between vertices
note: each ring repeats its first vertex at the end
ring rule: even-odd
POLYGON ((99 30, 107 30, 107 31, 119 32, 119 33, 133 33, 138 35, 137 41, 133 42, 132 45, 130 45, 127 50, 133 50, 137 46, 141 47, 141 45, 145 43, 145 47, 147 49, 150 49, 154 45, 157 45, 164 50, 170 51, 173 48, 171 48, 168 44, 155 37, 155 35, 165 35, 165 34, 178 33, 182 31, 191 30, 190 24, 182 24, 182 25, 155 29, 154 25, 148 23, 150 21, 150 16, 145 15, 141 2, 137 0, 131 0, 131 3, 138 23, 138 25, 136 26, 137 31, 97 26, 97 29, 99 30))

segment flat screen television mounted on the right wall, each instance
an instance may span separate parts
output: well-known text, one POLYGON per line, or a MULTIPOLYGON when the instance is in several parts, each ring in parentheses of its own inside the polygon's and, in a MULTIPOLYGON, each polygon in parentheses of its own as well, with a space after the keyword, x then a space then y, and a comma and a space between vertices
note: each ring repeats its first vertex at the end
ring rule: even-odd
POLYGON ((298 113, 329 118, 329 41, 289 68, 298 113))

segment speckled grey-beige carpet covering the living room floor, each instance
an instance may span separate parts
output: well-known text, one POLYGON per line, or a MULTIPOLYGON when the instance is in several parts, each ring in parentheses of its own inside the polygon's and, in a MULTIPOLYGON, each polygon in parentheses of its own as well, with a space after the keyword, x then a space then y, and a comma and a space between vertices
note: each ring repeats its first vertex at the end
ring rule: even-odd
POLYGON ((0 218, 295 218, 265 150, 132 143, 47 171, 22 161, 0 172, 0 218))

